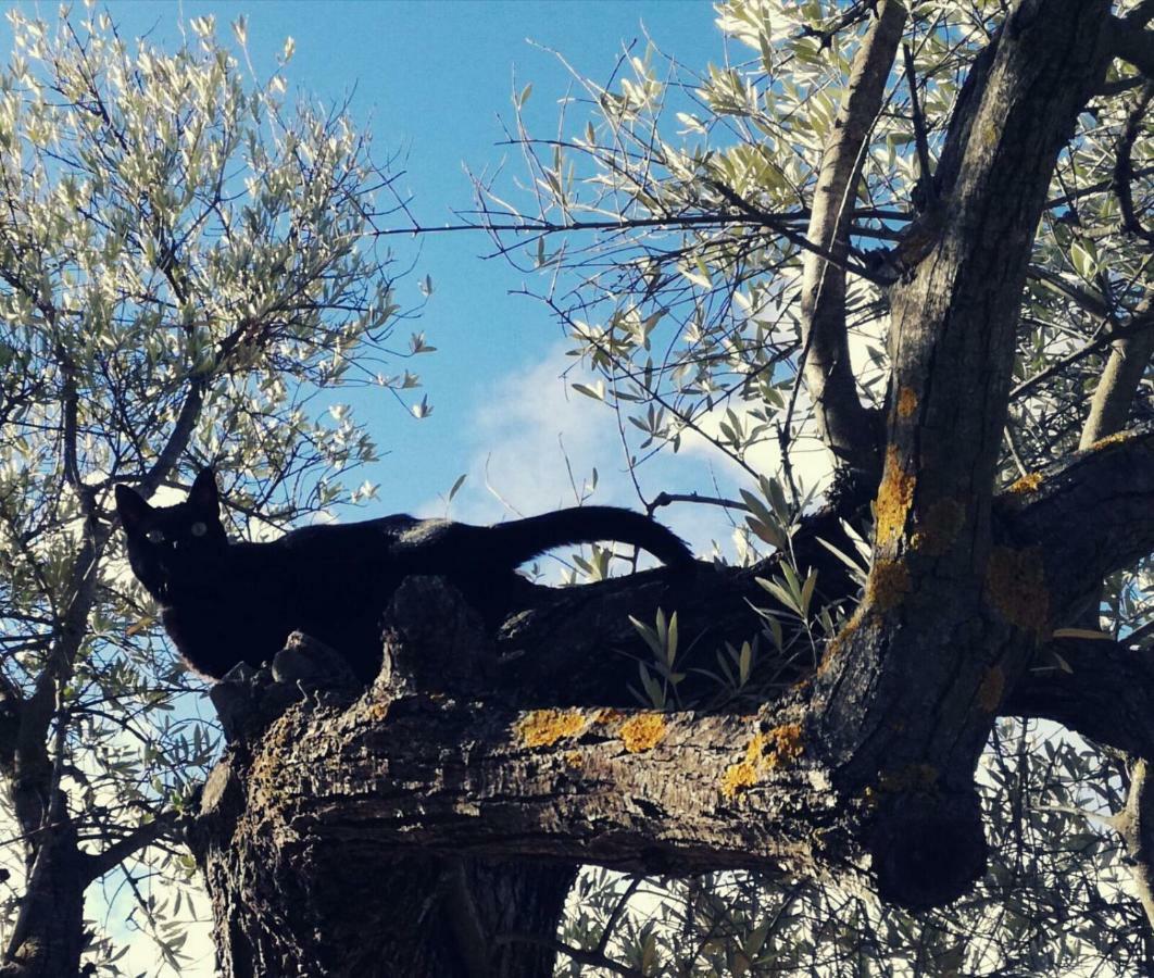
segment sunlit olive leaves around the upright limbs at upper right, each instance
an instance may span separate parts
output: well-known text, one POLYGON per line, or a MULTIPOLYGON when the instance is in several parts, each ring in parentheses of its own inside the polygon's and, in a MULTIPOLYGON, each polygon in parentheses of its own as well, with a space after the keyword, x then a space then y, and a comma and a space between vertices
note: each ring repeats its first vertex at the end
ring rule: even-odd
MULTIPOLYGON (((644 433, 627 441, 629 457, 677 450, 694 431, 748 464, 757 449, 810 431, 804 390, 790 396, 803 238, 868 6, 721 3, 717 22, 729 43, 718 64, 694 72, 652 43, 635 45, 609 81, 575 77, 557 137, 518 127, 523 195, 478 181, 482 221, 510 260, 545 273, 538 294, 569 329, 574 353, 605 376, 597 396, 644 433), (751 434, 734 436, 743 424, 751 434)), ((931 166, 1004 6, 912 5, 906 39, 931 166)), ((1039 229, 1007 478, 1076 439, 1087 387, 1149 277, 1149 242, 1126 231, 1111 189, 1141 94, 1133 69, 1119 65, 1062 154, 1039 229)), ((1148 226, 1154 141, 1145 125, 1130 135, 1127 186, 1131 225, 1148 226)), ((916 218, 919 179, 911 80, 899 61, 861 162, 853 263, 876 267, 916 218)), ((850 274, 846 309, 860 394, 881 405, 887 292, 850 274)))

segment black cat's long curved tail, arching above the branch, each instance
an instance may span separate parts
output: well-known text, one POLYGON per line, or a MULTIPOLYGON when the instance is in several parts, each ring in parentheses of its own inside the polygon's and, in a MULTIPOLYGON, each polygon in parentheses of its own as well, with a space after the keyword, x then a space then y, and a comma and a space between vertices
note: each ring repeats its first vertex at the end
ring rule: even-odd
POLYGON ((514 567, 554 547, 598 540, 632 544, 674 567, 694 562, 692 551, 672 530, 649 516, 616 506, 580 506, 510 520, 487 527, 486 536, 493 554, 500 554, 502 562, 508 560, 514 567))

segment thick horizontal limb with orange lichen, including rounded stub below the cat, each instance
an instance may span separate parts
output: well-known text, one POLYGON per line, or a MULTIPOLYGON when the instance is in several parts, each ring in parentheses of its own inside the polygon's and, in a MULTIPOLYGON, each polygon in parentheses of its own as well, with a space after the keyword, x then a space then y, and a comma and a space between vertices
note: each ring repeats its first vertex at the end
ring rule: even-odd
POLYGON ((463 674, 488 643, 440 582, 410 578, 387 620, 367 694, 310 696, 252 738, 250 761, 246 740, 213 772, 201 826, 222 858, 255 846, 321 879, 350 846, 368 878, 418 851, 677 873, 788 861, 842 880, 867 867, 864 809, 810 763, 800 689, 754 714, 525 710, 463 674))

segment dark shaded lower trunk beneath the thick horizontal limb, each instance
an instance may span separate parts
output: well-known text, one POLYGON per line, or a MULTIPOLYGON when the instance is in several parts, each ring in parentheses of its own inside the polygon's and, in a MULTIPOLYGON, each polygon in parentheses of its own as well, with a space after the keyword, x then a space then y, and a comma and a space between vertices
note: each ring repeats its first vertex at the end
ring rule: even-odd
POLYGON ((575 867, 398 856, 359 833, 273 828, 241 800, 237 776, 218 768, 197 829, 225 978, 553 973, 575 867))

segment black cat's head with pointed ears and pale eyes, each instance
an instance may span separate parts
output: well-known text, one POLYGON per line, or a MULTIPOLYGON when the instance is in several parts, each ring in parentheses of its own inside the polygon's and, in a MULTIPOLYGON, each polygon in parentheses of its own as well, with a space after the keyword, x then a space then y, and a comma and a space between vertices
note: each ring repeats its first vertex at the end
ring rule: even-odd
POLYGON ((128 562, 159 600, 212 580, 228 546, 220 523, 216 473, 202 469, 188 498, 175 506, 151 506, 136 490, 117 486, 117 513, 128 538, 128 562))

